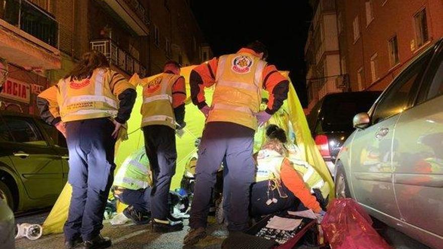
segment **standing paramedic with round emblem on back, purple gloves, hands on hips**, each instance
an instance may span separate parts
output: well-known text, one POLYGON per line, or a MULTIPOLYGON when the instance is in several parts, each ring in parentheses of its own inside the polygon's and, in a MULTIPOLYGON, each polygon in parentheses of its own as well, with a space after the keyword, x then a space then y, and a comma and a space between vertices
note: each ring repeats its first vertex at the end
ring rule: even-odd
POLYGON ((184 238, 185 244, 194 244, 206 236, 211 189, 224 158, 224 181, 229 182, 229 186, 224 185, 228 229, 248 228, 249 187, 255 174, 254 133, 281 107, 288 92, 288 80, 264 60, 266 57, 266 47, 257 41, 191 71, 191 99, 206 117, 206 125, 198 149, 191 230, 184 238), (209 107, 204 89, 213 85, 209 107), (266 110, 259 111, 262 90, 269 93, 269 101, 266 110))

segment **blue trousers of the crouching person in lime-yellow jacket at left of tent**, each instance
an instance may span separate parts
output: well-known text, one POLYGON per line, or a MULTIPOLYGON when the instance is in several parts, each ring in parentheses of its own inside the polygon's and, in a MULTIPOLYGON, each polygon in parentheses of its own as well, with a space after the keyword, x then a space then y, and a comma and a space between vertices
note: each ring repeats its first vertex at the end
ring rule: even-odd
POLYGON ((125 189, 118 199, 126 205, 133 206, 137 211, 151 212, 151 188, 132 190, 125 189))

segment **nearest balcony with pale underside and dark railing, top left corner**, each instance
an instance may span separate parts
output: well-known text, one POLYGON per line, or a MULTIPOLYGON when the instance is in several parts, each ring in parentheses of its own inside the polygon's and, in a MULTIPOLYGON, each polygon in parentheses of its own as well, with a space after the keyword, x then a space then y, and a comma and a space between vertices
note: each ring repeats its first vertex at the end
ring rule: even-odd
POLYGON ((23 67, 60 68, 54 17, 28 0, 0 3, 0 57, 23 67))

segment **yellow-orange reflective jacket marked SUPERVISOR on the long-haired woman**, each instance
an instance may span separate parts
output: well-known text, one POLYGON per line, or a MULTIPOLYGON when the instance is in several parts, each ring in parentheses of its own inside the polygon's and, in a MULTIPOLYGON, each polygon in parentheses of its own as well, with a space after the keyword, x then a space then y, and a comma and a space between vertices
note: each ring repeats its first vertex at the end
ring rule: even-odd
POLYGON ((108 68, 95 69, 92 76, 82 80, 60 79, 41 94, 54 118, 69 122, 92 118, 115 118, 122 92, 135 88, 119 73, 108 68))

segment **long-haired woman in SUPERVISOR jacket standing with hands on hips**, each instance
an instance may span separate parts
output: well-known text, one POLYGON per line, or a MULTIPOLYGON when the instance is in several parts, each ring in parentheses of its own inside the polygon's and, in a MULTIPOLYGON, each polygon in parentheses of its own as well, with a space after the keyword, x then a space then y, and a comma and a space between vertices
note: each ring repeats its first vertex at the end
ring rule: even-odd
POLYGON ((40 116, 66 137, 72 186, 65 247, 105 248, 100 235, 114 176, 114 146, 135 102, 135 89, 96 51, 38 96, 40 116))

